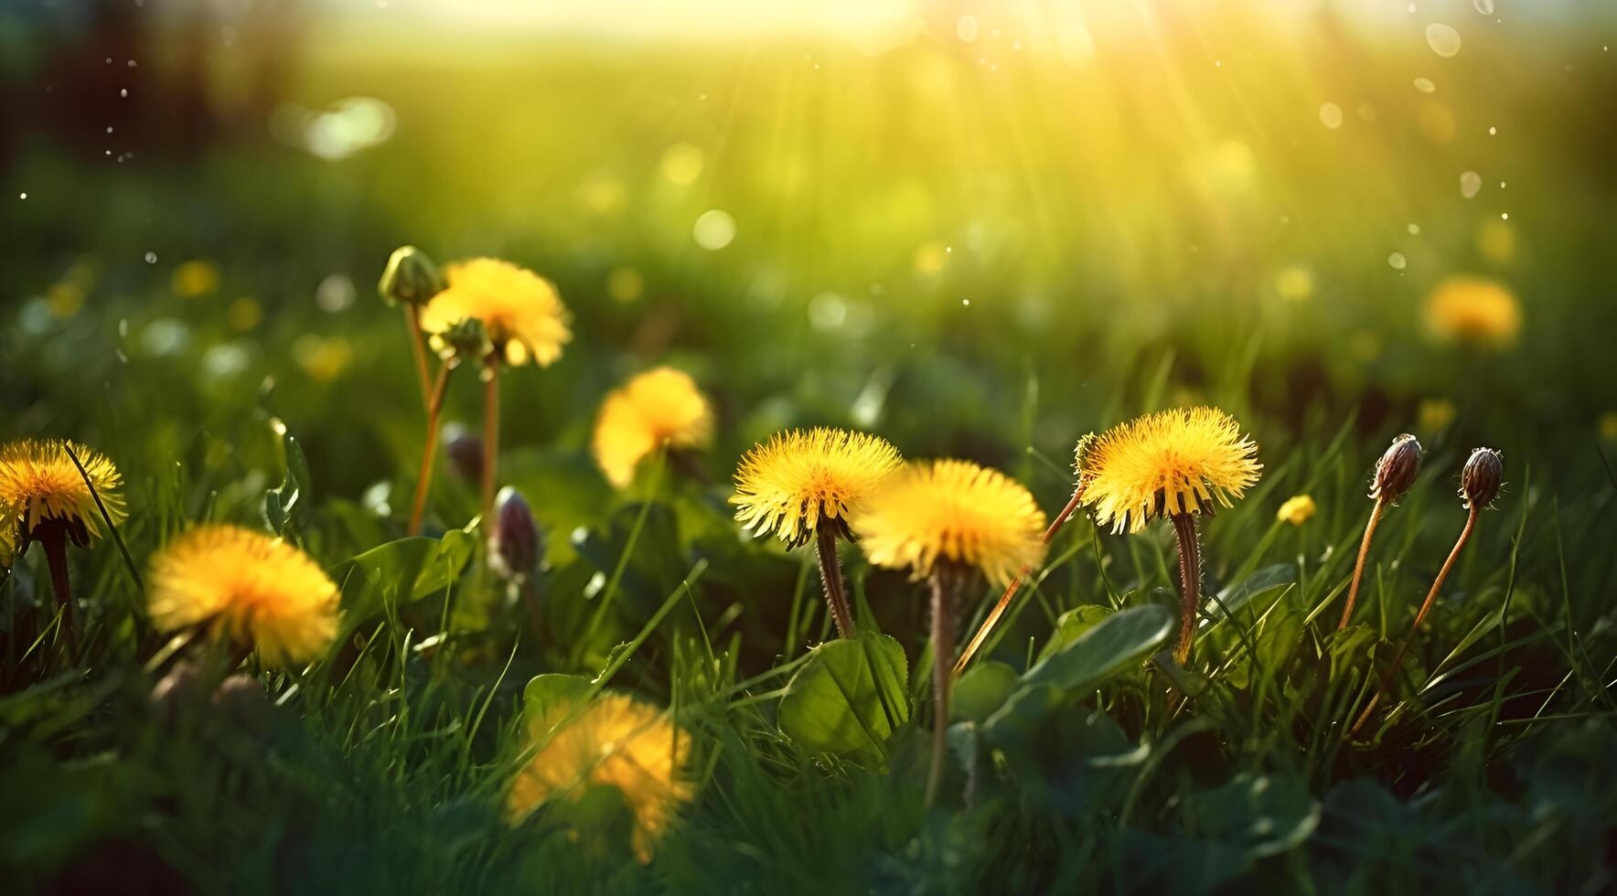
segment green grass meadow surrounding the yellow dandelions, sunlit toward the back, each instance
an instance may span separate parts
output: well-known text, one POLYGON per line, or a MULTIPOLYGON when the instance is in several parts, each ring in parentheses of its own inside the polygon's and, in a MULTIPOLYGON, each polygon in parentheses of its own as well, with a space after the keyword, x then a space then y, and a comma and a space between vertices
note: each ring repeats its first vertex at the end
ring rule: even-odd
MULTIPOLYGON (((1543 36, 1468 47, 1501 71, 1539 57, 1559 70, 1557 53, 1573 52, 1543 36)), ((939 53, 860 61, 825 52, 828 71, 852 74, 808 81, 783 52, 754 60, 731 94, 713 87, 723 100, 713 108, 671 118, 653 115, 657 100, 705 89, 745 53, 681 57, 666 86, 634 61, 585 50, 505 76, 320 57, 288 87, 296 97, 372 91, 419 126, 341 163, 243 137, 107 168, 45 136, 21 139, 0 175, 6 201, 31 194, 8 207, 19 226, 0 246, 11 283, 0 304, 0 437, 71 437, 107 453, 131 514, 121 543, 71 556, 79 655, 66 655, 42 552, 0 581, 5 888, 1379 896, 1614 886, 1617 445, 1594 419, 1617 408, 1601 361, 1617 306, 1601 256, 1612 189, 1588 121, 1609 81, 1601 57, 1578 50, 1588 81, 1510 79, 1497 97, 1457 76, 1463 121, 1504 123, 1488 162, 1522 171, 1510 173, 1518 254, 1494 264, 1473 246, 1494 212, 1459 205, 1452 189, 1459 150, 1475 146, 1421 142, 1428 100, 1394 94, 1425 71, 1425 57, 1394 53, 1365 74, 1384 129, 1329 165, 1319 158, 1336 137, 1315 133, 1318 97, 1302 79, 1276 78, 1264 94, 1277 108, 1302 104, 1310 129, 1295 152, 1282 152, 1292 118, 1260 116, 1271 126, 1243 131, 1245 94, 1201 79, 1185 84, 1205 113, 1197 146, 1145 125, 1095 144, 1090 118, 1045 115, 1041 104, 1067 87, 1033 79, 1014 104, 993 91, 959 100, 975 113, 1004 107, 994 128, 949 120, 970 134, 951 131, 959 157, 927 149, 938 134, 925 129, 888 133, 888 155, 910 162, 894 171, 836 147, 859 146, 906 102, 930 120, 952 100, 893 87, 828 116, 825 146, 792 123, 867 84, 907 84, 907 68, 884 66, 927 66, 939 53), (448 86, 433 87, 437 78, 448 86), (479 129, 500 118, 503 91, 547 79, 592 87, 535 91, 534 108, 501 118, 495 134, 479 129), (792 99, 779 110, 776 89, 792 99), (584 115, 618 94, 635 99, 608 108, 635 115, 584 115), (579 131, 559 134, 555 121, 579 131), (1523 133, 1536 137, 1518 141, 1523 133), (736 141, 728 154, 721 136, 736 141), (1240 197, 1190 196, 1180 154, 1201 158, 1226 136, 1263 162, 1289 162, 1264 168, 1240 197), (663 183, 660 157, 674 141, 708 149, 711 180, 687 192, 663 183), (1027 154, 1007 149, 1017 141, 1027 154), (471 163, 483 149, 490 157, 471 163), (1140 160, 1121 162, 1137 150, 1140 160), (808 183, 838 189, 813 202, 771 192, 778 168, 802 155, 818 178, 808 183), (996 160, 1038 176, 994 192, 996 160), (648 199, 616 217, 584 215, 574 188, 608 175, 648 199), (1161 192, 1138 202, 1124 188, 1158 181, 1161 192), (715 204, 736 212, 742 236, 724 252, 697 251, 689 222, 715 204), (878 207, 899 212, 872 218, 878 207), (1040 222, 1025 252, 970 239, 978 217, 1014 231, 1007 222, 1025 213, 1040 222), (1269 230, 1282 213, 1297 226, 1269 230), (1423 223, 1421 249, 1402 236, 1410 220, 1423 223), (857 226, 844 235, 842 222, 857 226), (404 539, 422 412, 403 322, 370 294, 403 241, 529 264, 555 277, 574 312, 564 357, 513 370, 501 396, 501 480, 527 497, 545 532, 537 639, 526 603, 483 561, 475 484, 446 461, 429 537, 404 539), (930 241, 959 252, 939 273, 912 264, 930 241), (1394 246, 1410 254, 1405 273, 1384 264, 1394 246), (160 260, 144 262, 147 251, 160 260), (220 286, 179 298, 173 265, 194 257, 217 265, 220 286), (1294 264, 1318 285, 1302 302, 1269 286, 1294 264), (644 275, 640 298, 610 298, 619 267, 644 275), (1478 268, 1523 302, 1523 333, 1499 353, 1438 344, 1421 330, 1426 290, 1478 268), (357 299, 317 307, 328 277, 336 290, 348 278, 357 299), (231 306, 249 296, 262 320, 243 325, 231 306), (839 323, 826 312, 838 307, 839 323), (713 484, 647 463, 614 492, 589 454, 590 424, 610 388, 657 362, 689 370, 715 401, 715 445, 697 458, 713 484), (1423 416, 1428 399, 1452 403, 1454 421, 1423 416), (1070 493, 1082 433, 1192 401, 1242 421, 1264 475, 1203 527, 1210 600, 1190 668, 1167 661, 1161 639, 1138 636, 1174 615, 1167 527, 1124 537, 1077 518, 962 679, 944 796, 927 810, 923 585, 844 548, 855 618, 891 640, 817 649, 833 626, 812 558, 742 537, 726 505, 736 458, 783 427, 851 425, 910 458, 1004 469, 1054 511, 1070 493), (1336 632, 1371 466, 1404 430, 1420 435, 1425 466, 1381 524, 1355 624, 1336 632), (1478 445, 1504 450, 1507 487, 1394 694, 1349 738, 1463 524, 1454 488, 1478 445), (1318 501, 1318 516, 1300 527, 1276 521, 1298 493, 1318 501), (202 650, 152 631, 137 574, 202 521, 275 529, 343 585, 344 632, 330 657, 299 673, 247 658, 262 702, 257 691, 223 705, 152 699, 202 650), (783 721, 799 712, 794 687, 826 670, 862 676, 838 679, 854 683, 847 708, 783 721), (524 689, 543 673, 632 692, 690 733, 697 796, 652 864, 635 860, 610 794, 505 822, 524 759, 524 689), (834 728, 846 749, 805 742, 810 723, 834 728)), ((946 61, 957 76, 970 70, 946 61)), ((1323 89, 1349 89, 1324 79, 1323 89)), ((451 382, 446 419, 479 425, 471 375, 451 382)), ((972 592, 962 642, 994 597, 986 584, 972 592)))

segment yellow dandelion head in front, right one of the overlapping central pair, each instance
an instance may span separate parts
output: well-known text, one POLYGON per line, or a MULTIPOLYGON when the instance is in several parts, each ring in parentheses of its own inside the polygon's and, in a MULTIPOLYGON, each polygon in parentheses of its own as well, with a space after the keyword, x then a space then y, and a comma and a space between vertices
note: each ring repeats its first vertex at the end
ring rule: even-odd
POLYGON ((925 579, 939 561, 1004 585, 1045 556, 1045 511, 1020 482, 970 461, 906 464, 851 521, 876 566, 925 579))

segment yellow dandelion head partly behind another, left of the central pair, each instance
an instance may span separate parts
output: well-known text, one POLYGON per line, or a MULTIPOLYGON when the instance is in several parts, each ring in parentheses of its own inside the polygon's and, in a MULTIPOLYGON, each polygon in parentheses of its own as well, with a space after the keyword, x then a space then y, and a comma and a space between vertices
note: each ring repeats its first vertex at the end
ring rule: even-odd
POLYGON ((820 521, 844 537, 849 511, 899 466, 899 451, 862 432, 815 427, 781 432, 757 445, 736 469, 736 519, 760 535, 797 547, 820 521))

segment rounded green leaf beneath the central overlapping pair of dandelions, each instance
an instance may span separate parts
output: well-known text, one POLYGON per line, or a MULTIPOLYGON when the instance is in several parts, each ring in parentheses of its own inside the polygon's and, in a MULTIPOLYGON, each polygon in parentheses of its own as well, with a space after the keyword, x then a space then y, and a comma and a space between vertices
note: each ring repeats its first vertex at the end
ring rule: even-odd
POLYGON ((904 647, 889 636, 821 644, 786 686, 781 731, 815 752, 881 759, 886 739, 909 720, 907 683, 904 647))

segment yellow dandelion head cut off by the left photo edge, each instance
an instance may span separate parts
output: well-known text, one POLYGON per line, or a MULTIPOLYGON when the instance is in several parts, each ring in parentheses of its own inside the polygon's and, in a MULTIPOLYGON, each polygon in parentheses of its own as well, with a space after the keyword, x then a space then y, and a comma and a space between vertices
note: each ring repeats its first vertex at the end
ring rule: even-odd
POLYGON ((102 514, 68 448, 79 456, 84 474, 95 485, 107 516, 116 524, 125 518, 118 467, 99 451, 60 438, 11 442, 0 448, 0 540, 10 552, 27 547, 34 529, 45 521, 61 521, 73 542, 87 547, 102 534, 102 514))

